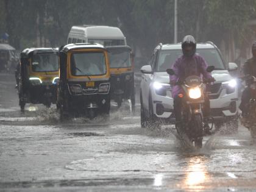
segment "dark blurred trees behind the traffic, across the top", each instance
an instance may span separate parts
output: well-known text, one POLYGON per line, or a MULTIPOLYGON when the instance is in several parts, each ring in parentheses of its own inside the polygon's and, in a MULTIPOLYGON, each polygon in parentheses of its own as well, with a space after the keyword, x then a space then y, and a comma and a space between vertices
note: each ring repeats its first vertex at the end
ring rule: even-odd
MULTIPOLYGON (((187 34, 216 42, 230 32, 243 35, 255 5, 256 0, 179 0, 178 40, 187 34)), ((0 7, 0 35, 7 32, 16 48, 38 40, 60 46, 71 26, 80 24, 118 26, 145 56, 158 43, 173 41, 174 0, 0 0, 0 7)))

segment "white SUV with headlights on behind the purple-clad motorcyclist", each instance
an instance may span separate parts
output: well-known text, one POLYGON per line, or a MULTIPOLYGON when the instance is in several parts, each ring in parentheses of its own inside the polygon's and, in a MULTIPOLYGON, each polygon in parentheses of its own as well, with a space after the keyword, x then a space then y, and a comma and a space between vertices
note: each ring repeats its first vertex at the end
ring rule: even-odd
MULTIPOLYGON (((215 127, 226 123, 227 127, 238 129, 238 88, 229 71, 238 66, 229 63, 226 68, 221 52, 212 42, 197 43, 196 54, 201 55, 208 65, 215 66, 212 76, 215 83, 210 85, 210 113, 215 127)), ((181 44, 159 44, 152 54, 149 65, 141 68, 140 88, 141 127, 162 123, 175 123, 173 98, 166 69, 182 55, 181 44)))

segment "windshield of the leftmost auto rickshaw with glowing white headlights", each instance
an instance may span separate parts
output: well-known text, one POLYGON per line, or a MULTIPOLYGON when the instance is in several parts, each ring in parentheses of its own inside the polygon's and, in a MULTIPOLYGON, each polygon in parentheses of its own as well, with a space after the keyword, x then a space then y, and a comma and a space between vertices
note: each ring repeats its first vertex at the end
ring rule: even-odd
POLYGON ((32 56, 32 70, 34 72, 58 71, 58 56, 56 54, 34 54, 32 56))

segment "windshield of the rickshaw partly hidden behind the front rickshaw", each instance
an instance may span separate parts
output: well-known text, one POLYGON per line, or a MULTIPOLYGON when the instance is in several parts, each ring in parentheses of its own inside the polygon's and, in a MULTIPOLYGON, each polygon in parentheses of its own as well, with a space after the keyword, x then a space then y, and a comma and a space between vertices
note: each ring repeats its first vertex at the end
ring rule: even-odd
POLYGON ((111 50, 108 52, 108 56, 110 59, 110 68, 127 68, 132 66, 128 51, 111 50))

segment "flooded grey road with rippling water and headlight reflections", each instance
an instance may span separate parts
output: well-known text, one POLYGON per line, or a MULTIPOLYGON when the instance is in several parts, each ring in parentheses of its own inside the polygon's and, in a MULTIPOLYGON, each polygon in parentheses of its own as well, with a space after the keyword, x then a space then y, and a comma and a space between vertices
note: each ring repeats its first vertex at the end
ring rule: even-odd
POLYGON ((238 133, 185 148, 175 129, 141 129, 139 110, 59 122, 55 106, 20 113, 14 77, 0 74, 0 191, 255 191, 256 143, 238 133))

